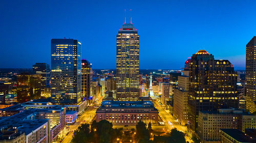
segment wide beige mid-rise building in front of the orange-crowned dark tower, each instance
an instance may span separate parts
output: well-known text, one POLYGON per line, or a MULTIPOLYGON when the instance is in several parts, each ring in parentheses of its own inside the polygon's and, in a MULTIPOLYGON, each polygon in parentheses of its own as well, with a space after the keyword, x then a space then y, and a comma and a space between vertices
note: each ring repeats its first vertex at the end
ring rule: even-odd
POLYGON ((220 141, 220 129, 256 128, 256 116, 239 109, 219 109, 200 111, 198 117, 198 136, 202 142, 220 141))

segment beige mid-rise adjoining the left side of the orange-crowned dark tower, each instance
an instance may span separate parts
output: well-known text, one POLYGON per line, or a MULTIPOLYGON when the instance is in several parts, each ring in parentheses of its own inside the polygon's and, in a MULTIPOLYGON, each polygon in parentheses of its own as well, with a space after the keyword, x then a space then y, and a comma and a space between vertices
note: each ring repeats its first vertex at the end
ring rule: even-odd
POLYGON ((174 89, 174 117, 182 124, 187 124, 188 119, 188 71, 182 71, 178 76, 178 85, 174 89))

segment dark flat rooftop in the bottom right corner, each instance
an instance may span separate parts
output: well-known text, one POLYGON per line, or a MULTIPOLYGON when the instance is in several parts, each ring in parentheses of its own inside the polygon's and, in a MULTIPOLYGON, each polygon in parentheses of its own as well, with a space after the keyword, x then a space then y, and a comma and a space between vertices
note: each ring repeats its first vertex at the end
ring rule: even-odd
POLYGON ((238 130, 238 129, 220 129, 224 133, 231 136, 233 139, 236 139, 240 142, 255 142, 255 138, 250 138, 247 136, 244 132, 238 130))

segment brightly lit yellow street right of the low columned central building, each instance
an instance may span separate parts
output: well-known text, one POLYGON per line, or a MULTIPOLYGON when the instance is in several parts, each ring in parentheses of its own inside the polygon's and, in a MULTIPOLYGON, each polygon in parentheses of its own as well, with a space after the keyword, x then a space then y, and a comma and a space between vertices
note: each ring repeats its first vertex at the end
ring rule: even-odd
MULTIPOLYGON (((187 131, 186 126, 180 125, 179 122, 176 121, 176 119, 169 113, 169 110, 166 110, 166 108, 162 105, 159 105, 159 103, 156 100, 153 100, 155 107, 159 111, 159 116, 163 120, 165 124, 165 129, 167 132, 172 130, 173 128, 177 128, 178 131, 182 131, 185 133, 187 131)), ((185 136, 186 141, 192 142, 189 136, 185 136)))

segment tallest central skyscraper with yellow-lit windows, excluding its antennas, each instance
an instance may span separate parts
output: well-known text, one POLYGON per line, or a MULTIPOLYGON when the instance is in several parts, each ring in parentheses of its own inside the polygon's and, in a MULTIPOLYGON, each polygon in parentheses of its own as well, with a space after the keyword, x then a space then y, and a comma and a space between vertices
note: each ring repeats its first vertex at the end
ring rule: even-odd
POLYGON ((124 23, 116 36, 117 99, 136 101, 139 97, 139 35, 132 23, 124 23))

